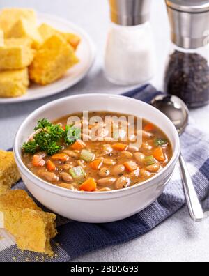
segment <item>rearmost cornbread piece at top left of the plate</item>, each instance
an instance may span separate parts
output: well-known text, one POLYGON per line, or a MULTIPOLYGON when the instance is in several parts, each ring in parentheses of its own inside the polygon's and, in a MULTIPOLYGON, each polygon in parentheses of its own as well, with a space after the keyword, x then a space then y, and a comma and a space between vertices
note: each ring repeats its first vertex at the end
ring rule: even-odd
POLYGON ((26 8, 4 8, 0 12, 0 29, 5 33, 5 37, 8 36, 8 31, 12 28, 13 24, 24 18, 29 22, 36 24, 36 13, 34 10, 26 8))

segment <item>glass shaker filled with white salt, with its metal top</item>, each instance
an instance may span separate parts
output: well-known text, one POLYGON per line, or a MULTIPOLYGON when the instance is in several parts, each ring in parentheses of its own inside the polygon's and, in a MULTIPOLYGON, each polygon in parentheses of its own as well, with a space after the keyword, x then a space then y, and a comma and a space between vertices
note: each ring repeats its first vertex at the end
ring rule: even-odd
POLYGON ((155 47, 150 26, 152 0, 109 0, 111 26, 104 73, 120 85, 145 84, 155 75, 155 47))

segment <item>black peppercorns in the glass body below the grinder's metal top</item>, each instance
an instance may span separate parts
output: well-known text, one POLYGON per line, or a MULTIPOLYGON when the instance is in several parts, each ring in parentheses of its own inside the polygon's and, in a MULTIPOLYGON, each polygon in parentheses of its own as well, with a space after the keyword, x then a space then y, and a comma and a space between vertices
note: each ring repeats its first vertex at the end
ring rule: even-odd
POLYGON ((200 54, 175 51, 171 54, 164 89, 177 95, 188 107, 209 103, 209 66, 200 54))

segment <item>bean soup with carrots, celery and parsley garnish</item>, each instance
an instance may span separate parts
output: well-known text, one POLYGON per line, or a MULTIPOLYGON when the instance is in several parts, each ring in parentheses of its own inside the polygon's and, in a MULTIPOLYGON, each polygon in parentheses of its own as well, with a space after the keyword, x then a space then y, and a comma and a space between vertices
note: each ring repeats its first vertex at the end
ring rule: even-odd
POLYGON ((142 119, 138 130, 137 117, 130 123, 127 114, 91 112, 88 118, 80 113, 52 123, 47 119, 38 121, 22 147, 26 167, 39 178, 68 190, 108 192, 152 178, 171 160, 171 143, 153 123, 142 119), (91 120, 98 116, 102 121, 91 120), (114 128, 111 118, 121 116, 120 127, 114 128), (79 118, 80 123, 69 123, 72 117, 79 118), (110 118, 109 130, 105 118, 110 118), (88 126, 88 134, 84 125, 88 126), (127 139, 126 129, 132 130, 127 139), (141 135, 140 144, 133 143, 137 134, 141 135))

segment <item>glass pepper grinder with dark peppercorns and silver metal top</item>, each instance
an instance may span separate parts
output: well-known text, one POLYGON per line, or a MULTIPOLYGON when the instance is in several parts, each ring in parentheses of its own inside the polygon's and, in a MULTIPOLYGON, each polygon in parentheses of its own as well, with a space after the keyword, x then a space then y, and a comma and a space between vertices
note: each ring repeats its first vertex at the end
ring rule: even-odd
POLYGON ((209 1, 166 0, 171 54, 164 90, 188 107, 209 103, 209 1))

